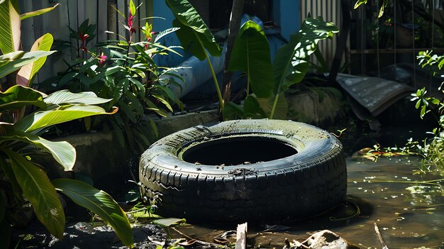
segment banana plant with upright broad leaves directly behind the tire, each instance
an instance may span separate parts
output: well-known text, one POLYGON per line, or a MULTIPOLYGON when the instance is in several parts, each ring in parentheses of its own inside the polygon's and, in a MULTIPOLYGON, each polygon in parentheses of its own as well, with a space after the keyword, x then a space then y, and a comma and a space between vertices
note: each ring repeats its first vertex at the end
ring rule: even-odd
POLYGON ((290 36, 289 43, 277 50, 270 62, 270 47, 259 25, 247 21, 235 38, 228 70, 247 75, 247 95, 244 105, 226 103, 224 119, 231 118, 286 118, 287 101, 284 92, 301 82, 309 70, 309 56, 316 51, 319 41, 338 33, 333 23, 322 17, 306 18, 301 30, 290 36))

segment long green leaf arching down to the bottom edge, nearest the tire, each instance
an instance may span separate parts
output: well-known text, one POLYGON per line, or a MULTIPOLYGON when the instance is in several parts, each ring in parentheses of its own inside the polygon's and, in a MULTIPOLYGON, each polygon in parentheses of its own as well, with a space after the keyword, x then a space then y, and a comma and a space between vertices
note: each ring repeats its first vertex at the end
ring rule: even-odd
POLYGON ((98 215, 114 228, 123 245, 133 248, 131 225, 120 206, 109 194, 74 179, 54 179, 52 184, 79 206, 98 215))

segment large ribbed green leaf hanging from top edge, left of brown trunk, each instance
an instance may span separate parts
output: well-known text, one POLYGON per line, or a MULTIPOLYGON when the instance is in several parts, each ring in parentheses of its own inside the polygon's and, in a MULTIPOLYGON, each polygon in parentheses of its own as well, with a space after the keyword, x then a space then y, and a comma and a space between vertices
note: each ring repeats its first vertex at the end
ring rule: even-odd
POLYGON ((166 3, 176 17, 173 26, 180 28, 176 34, 183 48, 199 60, 205 59, 205 49, 213 56, 221 56, 222 48, 189 1, 166 0, 166 3))

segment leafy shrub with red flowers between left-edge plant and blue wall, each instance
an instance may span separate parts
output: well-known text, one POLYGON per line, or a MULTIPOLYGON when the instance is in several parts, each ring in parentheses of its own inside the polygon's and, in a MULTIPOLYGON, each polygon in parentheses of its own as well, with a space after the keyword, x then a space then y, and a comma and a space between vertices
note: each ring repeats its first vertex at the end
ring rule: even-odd
MULTIPOLYGON (((111 99, 106 110, 117 106, 120 110, 110 117, 97 117, 94 121, 86 119, 84 122, 87 131, 91 126, 102 125, 104 129, 116 132, 121 145, 129 144, 135 151, 143 151, 157 136, 157 128, 147 114, 167 117, 168 111, 174 111, 177 105, 182 109, 182 102, 168 88, 171 82, 167 74, 174 74, 175 68, 160 67, 154 61, 155 56, 167 55, 168 52, 179 53, 177 47, 165 47, 158 40, 177 28, 170 28, 157 34, 152 40, 152 26, 145 23, 143 27, 136 27, 133 23, 137 10, 130 1, 125 28, 128 39, 105 40, 99 42, 95 48, 88 49, 89 38, 94 26, 84 21, 79 31, 71 31, 72 37, 80 42, 79 51, 85 52, 88 59, 74 60, 70 67, 57 77, 43 82, 40 87, 54 91, 55 89, 70 89, 72 92, 92 91, 105 99, 111 99), (141 42, 133 42, 133 36, 139 29, 145 35, 141 42)), ((176 79, 181 79, 177 76, 176 79)))

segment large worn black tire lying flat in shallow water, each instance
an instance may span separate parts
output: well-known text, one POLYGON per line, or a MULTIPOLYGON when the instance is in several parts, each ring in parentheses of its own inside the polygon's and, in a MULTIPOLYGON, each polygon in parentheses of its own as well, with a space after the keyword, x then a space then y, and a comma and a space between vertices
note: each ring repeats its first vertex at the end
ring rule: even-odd
POLYGON ((141 191, 164 216, 263 221, 320 214, 345 199, 343 147, 305 123, 225 121, 188 128, 140 158, 141 191))

